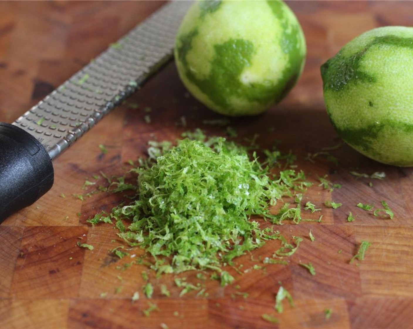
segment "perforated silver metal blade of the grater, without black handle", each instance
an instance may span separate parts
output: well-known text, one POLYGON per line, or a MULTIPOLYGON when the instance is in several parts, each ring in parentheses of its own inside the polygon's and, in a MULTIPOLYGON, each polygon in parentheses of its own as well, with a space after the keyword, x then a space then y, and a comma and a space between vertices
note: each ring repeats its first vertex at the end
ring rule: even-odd
POLYGON ((13 125, 55 158, 166 63, 192 1, 172 1, 74 74, 13 125))

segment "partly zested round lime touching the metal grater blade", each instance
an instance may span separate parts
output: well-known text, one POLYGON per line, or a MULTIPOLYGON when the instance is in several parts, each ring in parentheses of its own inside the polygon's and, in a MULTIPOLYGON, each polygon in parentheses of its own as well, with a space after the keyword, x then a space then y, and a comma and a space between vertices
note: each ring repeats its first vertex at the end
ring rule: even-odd
POLYGON ((255 115, 279 102, 306 54, 301 26, 282 1, 199 1, 178 30, 179 76, 218 113, 255 115))

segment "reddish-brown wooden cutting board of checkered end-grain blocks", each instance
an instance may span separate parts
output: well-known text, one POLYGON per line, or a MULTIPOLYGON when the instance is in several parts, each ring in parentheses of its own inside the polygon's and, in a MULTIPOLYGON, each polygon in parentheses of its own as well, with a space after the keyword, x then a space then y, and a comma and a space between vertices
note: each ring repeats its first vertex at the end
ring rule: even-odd
MULTIPOLYGON (((0 120, 12 122, 21 113, 81 69, 163 2, 0 2, 0 120)), ((254 118, 231 120, 240 137, 262 147, 297 156, 296 164, 314 182, 328 175, 341 184, 329 192, 315 185, 304 201, 320 206, 323 220, 286 224, 283 235, 304 238, 287 265, 237 274, 232 286, 216 281, 179 297, 173 276, 157 279, 151 300, 144 297, 142 267, 119 270, 124 259, 109 254, 116 232, 91 227, 86 220, 108 210, 119 197, 104 193, 80 200, 86 179, 104 172, 119 175, 129 159, 145 155, 147 141, 174 140, 197 127, 225 134, 203 124, 221 119, 198 103, 180 83, 171 63, 127 104, 117 108, 54 162, 55 185, 36 204, 10 216, 0 226, 1 328, 411 328, 413 327, 413 169, 385 166, 348 146, 330 151, 339 166, 323 156, 306 159, 323 147, 337 145, 323 103, 319 67, 345 43, 383 25, 413 25, 413 3, 399 1, 292 1, 308 46, 306 67, 297 86, 278 106, 254 118), (128 106, 129 104, 129 106, 128 106), (130 104, 139 104, 139 109, 130 104), (151 122, 145 121, 151 108, 151 122), (183 127, 183 119, 187 127, 183 127), (103 144, 107 153, 99 148, 103 144), (385 172, 385 180, 356 178, 359 173, 385 172), (373 186, 369 186, 369 182, 373 186), (63 197, 63 195, 65 197, 63 197), (323 207, 325 200, 343 204, 323 207), (385 200, 394 219, 377 219, 358 209, 358 202, 385 200), (347 222, 351 211, 356 220, 347 222), (316 238, 309 239, 309 231, 316 238), (85 250, 77 242, 89 243, 85 250), (371 243, 362 262, 349 264, 361 241, 371 243), (316 275, 299 263, 311 262, 316 275), (166 284, 171 297, 159 292, 166 284), (294 299, 284 311, 274 310, 282 285, 294 299), (239 288, 237 287, 239 286, 239 288), (121 287, 121 288, 120 288, 121 287), (237 289, 238 288, 238 289, 237 289), (135 291, 140 299, 132 302, 135 291), (242 293, 248 297, 243 298, 242 293), (144 310, 156 305, 147 317, 144 310), (325 310, 331 310, 329 319, 325 310), (262 314, 279 319, 266 322, 262 314)), ((0 187, 1 188, 1 187, 0 187)), ((116 245, 115 245, 116 246, 116 245)), ((280 245, 269 242, 240 259, 244 268, 262 266, 260 257, 280 245)), ((262 258, 261 258, 262 259, 262 258)), ((130 259, 129 259, 130 261, 130 259)), ((195 274, 185 274, 195 280, 195 274)))

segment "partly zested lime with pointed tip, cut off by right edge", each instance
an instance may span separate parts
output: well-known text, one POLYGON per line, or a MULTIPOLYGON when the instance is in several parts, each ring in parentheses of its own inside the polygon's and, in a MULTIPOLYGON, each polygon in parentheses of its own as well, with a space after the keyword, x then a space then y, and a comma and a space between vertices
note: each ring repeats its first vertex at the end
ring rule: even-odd
POLYGON ((413 166, 413 28, 367 31, 321 66, 327 113, 362 154, 413 166))

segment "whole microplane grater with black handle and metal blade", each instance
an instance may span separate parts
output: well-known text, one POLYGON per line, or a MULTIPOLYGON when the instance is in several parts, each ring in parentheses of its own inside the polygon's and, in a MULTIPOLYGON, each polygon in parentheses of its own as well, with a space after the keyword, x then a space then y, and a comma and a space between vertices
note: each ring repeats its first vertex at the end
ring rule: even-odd
POLYGON ((162 6, 12 124, 0 122, 0 223, 50 189, 52 159, 172 58, 190 5, 162 6))

